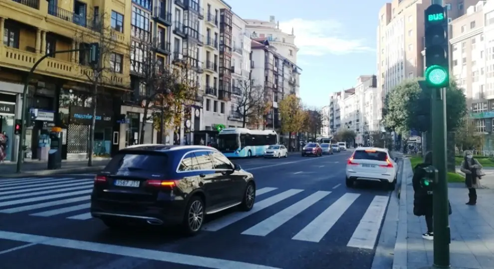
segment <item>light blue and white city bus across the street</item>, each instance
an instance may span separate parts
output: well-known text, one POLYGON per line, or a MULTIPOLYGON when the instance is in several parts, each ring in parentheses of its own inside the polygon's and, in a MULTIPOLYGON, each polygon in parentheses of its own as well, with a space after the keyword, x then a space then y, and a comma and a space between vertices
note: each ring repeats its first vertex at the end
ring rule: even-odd
POLYGON ((269 145, 278 143, 273 130, 225 128, 218 134, 218 150, 227 157, 263 156, 269 145))

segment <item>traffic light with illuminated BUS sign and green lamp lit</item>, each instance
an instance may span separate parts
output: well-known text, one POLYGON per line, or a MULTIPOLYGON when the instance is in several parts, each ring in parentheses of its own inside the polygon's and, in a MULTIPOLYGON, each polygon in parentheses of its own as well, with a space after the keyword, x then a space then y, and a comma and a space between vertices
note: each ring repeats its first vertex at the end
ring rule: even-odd
POLYGON ((428 87, 449 86, 448 13, 439 4, 425 10, 425 80, 428 87))

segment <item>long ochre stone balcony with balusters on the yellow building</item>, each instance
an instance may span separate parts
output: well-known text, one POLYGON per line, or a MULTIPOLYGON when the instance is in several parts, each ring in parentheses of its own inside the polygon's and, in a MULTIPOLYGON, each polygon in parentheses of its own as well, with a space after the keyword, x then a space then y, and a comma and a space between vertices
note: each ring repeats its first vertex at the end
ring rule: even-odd
MULTIPOLYGON (((28 71, 42 56, 35 52, 0 45, 0 65, 7 68, 28 71)), ((44 59, 34 73, 82 83, 87 83, 87 77, 92 76, 92 70, 89 67, 51 57, 44 59)), ((128 74, 104 71, 102 77, 109 87, 128 88, 130 86, 128 74)))

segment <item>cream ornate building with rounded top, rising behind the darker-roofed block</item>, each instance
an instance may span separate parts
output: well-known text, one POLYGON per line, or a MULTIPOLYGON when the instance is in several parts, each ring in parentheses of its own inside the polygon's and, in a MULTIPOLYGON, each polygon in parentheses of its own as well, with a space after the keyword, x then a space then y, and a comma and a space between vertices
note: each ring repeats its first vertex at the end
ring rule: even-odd
POLYGON ((295 65, 286 79, 287 84, 283 87, 286 87, 286 92, 294 92, 299 96, 302 69, 296 66, 298 47, 295 45, 293 28, 291 34, 281 31, 279 21, 276 22, 274 16, 270 16, 269 21, 246 19, 246 22, 251 38, 268 40, 269 44, 276 49, 276 53, 295 65))

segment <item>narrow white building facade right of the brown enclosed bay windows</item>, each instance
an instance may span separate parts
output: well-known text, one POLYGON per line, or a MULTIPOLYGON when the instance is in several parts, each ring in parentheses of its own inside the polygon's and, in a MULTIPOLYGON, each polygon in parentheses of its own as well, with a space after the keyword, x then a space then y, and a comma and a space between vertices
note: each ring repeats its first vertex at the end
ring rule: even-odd
POLYGON ((232 101, 228 116, 229 127, 244 127, 243 114, 239 104, 245 101, 246 83, 250 83, 250 36, 246 31, 246 21, 233 14, 232 34, 232 101))

